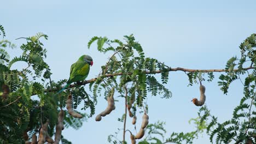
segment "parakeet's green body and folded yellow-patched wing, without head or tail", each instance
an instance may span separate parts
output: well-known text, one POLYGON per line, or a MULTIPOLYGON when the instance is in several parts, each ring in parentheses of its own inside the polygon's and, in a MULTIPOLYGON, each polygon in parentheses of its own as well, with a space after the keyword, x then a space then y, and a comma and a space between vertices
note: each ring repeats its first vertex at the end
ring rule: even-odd
POLYGON ((83 61, 77 61, 71 65, 68 83, 83 81, 89 74, 90 65, 83 61))

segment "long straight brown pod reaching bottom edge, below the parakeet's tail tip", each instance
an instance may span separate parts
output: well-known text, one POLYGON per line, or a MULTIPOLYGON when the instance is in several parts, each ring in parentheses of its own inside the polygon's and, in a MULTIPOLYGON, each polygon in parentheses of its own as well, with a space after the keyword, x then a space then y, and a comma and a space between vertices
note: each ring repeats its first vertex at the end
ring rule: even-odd
POLYGON ((59 144, 60 143, 61 133, 62 133, 62 130, 64 129, 63 118, 64 118, 64 111, 60 110, 59 117, 58 117, 58 123, 56 125, 54 144, 59 144))

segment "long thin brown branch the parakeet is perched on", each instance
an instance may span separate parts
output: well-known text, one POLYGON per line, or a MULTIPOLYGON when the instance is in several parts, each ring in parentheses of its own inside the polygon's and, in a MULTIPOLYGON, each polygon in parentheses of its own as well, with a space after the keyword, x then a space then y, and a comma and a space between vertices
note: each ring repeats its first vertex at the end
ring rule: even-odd
MULTIPOLYGON (((243 68, 243 70, 249 70, 249 69, 254 69, 254 67, 247 67, 243 68)), ((210 73, 210 72, 228 72, 229 70, 226 69, 185 69, 185 68, 170 68, 167 69, 167 71, 184 71, 184 72, 202 72, 202 73, 210 73)), ((232 71, 238 71, 238 69, 234 69, 232 71)), ((155 70, 155 71, 145 71, 144 73, 146 74, 159 74, 163 73, 162 70, 155 70)), ((127 73, 127 75, 132 75, 133 73, 127 73)), ((106 74, 104 77, 112 77, 112 76, 118 76, 118 75, 123 75, 123 73, 115 73, 115 74, 106 74)), ((97 80, 98 77, 95 77, 94 79, 88 80, 88 81, 83 81, 81 83, 75 83, 73 85, 70 85, 69 88, 75 87, 75 86, 82 86, 86 85, 88 83, 94 82, 97 80)), ((58 91, 59 89, 50 89, 47 90, 45 89, 44 92, 55 92, 58 91)))

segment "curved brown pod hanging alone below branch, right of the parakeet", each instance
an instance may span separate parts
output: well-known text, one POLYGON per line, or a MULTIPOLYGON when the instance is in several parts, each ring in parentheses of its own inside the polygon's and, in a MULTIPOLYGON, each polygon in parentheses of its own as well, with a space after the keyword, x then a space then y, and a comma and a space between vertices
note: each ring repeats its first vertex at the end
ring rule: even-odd
POLYGON ((115 109, 115 101, 114 101, 114 87, 110 90, 110 95, 107 98, 108 106, 106 110, 102 111, 100 114, 98 114, 95 118, 95 121, 101 121, 101 117, 104 117, 108 115, 110 112, 112 112, 115 109))

